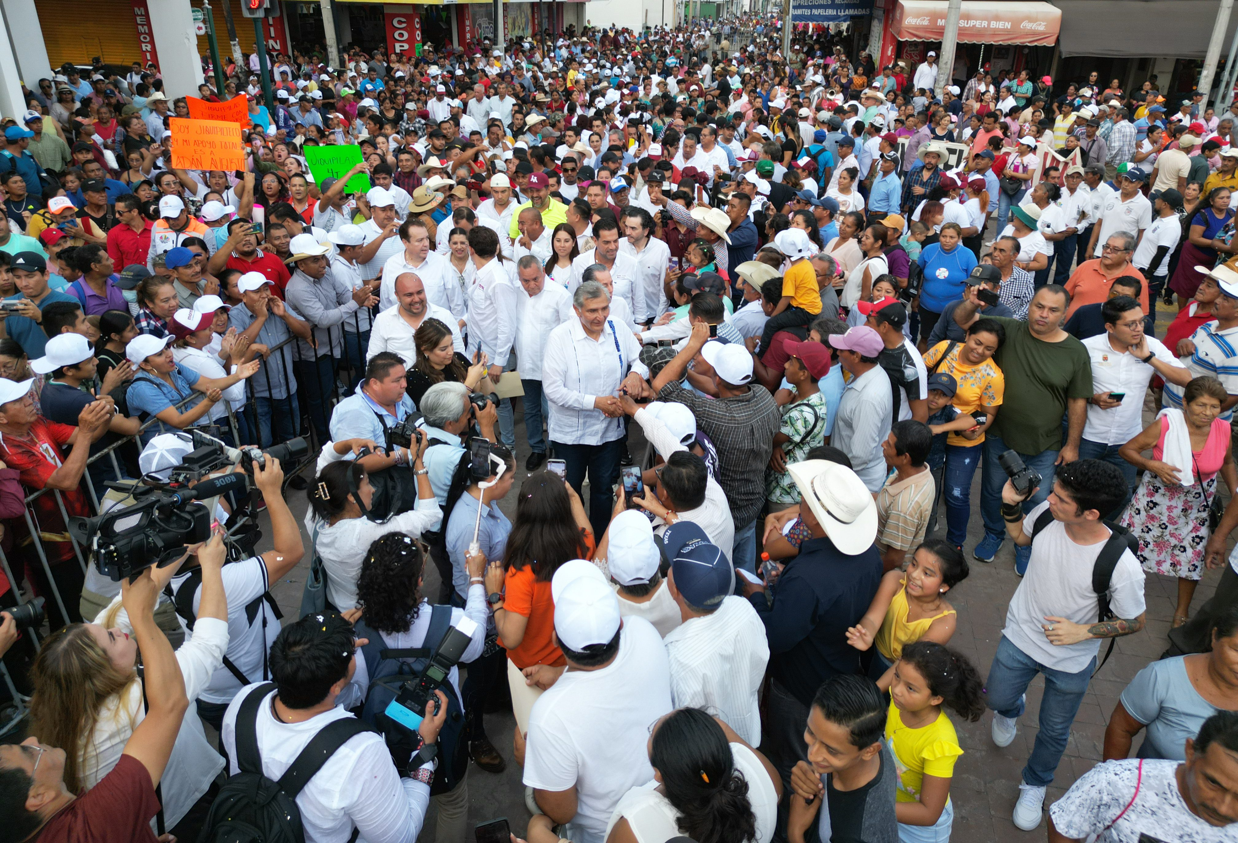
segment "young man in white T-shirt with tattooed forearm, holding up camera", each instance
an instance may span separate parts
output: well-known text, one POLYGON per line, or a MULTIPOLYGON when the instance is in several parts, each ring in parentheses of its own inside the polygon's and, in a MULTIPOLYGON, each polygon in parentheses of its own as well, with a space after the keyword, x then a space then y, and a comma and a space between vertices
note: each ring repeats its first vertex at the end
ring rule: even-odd
MULTIPOLYGON (((1035 305, 1032 300, 1032 312, 1035 305)), ((1014 824, 1031 831, 1040 824, 1045 787, 1087 693, 1101 639, 1144 628, 1144 572, 1130 535, 1102 521, 1127 494, 1115 465, 1099 459, 1060 465, 1047 500, 1024 515, 1024 501, 1042 480, 1013 452, 1004 457, 1014 464, 1002 489, 1002 519, 1015 546, 1030 550, 1030 563, 1006 608, 985 704, 994 712, 993 743, 1009 746, 1026 707, 1025 691, 1036 673, 1045 675, 1040 730, 1014 807, 1014 824), (1093 587, 1098 574, 1106 582, 1104 572, 1107 588, 1098 593, 1093 587)))

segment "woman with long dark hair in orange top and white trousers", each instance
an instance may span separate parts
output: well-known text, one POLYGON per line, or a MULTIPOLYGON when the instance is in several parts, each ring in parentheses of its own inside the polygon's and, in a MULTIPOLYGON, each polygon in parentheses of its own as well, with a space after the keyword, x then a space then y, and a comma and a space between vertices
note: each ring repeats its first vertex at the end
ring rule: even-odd
POLYGON ((504 558, 491 560, 485 568, 487 593, 503 593, 491 607, 499 639, 508 650, 519 738, 529 729, 534 701, 567 666, 555 644, 550 581, 565 562, 592 558, 595 546, 584 505, 571 485, 550 472, 525 480, 504 558))

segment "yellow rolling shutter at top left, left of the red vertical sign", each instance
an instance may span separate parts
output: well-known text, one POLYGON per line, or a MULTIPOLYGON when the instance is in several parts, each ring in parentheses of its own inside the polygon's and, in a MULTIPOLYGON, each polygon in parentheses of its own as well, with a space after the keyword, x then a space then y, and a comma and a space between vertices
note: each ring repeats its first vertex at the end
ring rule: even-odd
MULTIPOLYGON (((89 64, 100 56, 109 64, 129 64, 142 57, 137 48, 132 4, 118 0, 40 0, 38 24, 52 66, 89 64)), ((26 80, 33 87, 36 80, 26 80)))

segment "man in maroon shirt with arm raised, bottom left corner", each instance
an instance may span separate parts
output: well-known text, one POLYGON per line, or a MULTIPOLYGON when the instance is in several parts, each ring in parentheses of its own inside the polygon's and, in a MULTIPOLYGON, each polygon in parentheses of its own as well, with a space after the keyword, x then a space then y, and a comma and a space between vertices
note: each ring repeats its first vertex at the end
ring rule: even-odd
POLYGON ((42 743, 33 734, 21 744, 0 746, 0 824, 7 829, 5 839, 155 843, 150 828, 160 811, 155 787, 189 703, 172 646, 152 616, 158 599, 154 574, 154 568, 144 571, 132 583, 121 586, 142 654, 146 717, 125 741, 111 772, 80 796, 66 786, 63 748, 42 743))

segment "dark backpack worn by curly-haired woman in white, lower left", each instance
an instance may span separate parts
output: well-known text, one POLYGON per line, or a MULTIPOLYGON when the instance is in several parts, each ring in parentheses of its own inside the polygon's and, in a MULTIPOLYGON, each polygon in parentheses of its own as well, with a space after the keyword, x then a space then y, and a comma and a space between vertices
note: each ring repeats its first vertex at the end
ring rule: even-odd
MULTIPOLYGON (((381 633, 365 624, 364 615, 353 623, 357 636, 369 639, 369 642, 361 646, 370 686, 365 693, 360 718, 383 734, 391 751, 391 760, 397 767, 407 764, 413 744, 405 728, 391 723, 385 712, 404 683, 426 668, 430 657, 451 629, 452 607, 432 605, 431 610, 430 629, 426 630, 426 638, 420 647, 387 647, 383 642, 381 633)), ((464 777, 469 758, 467 751, 459 751, 465 745, 461 738, 461 732, 464 729, 464 704, 451 682, 443 682, 441 690, 447 694, 447 720, 438 733, 438 771, 435 774, 435 784, 430 787, 431 796, 446 793, 456 787, 464 777)))

